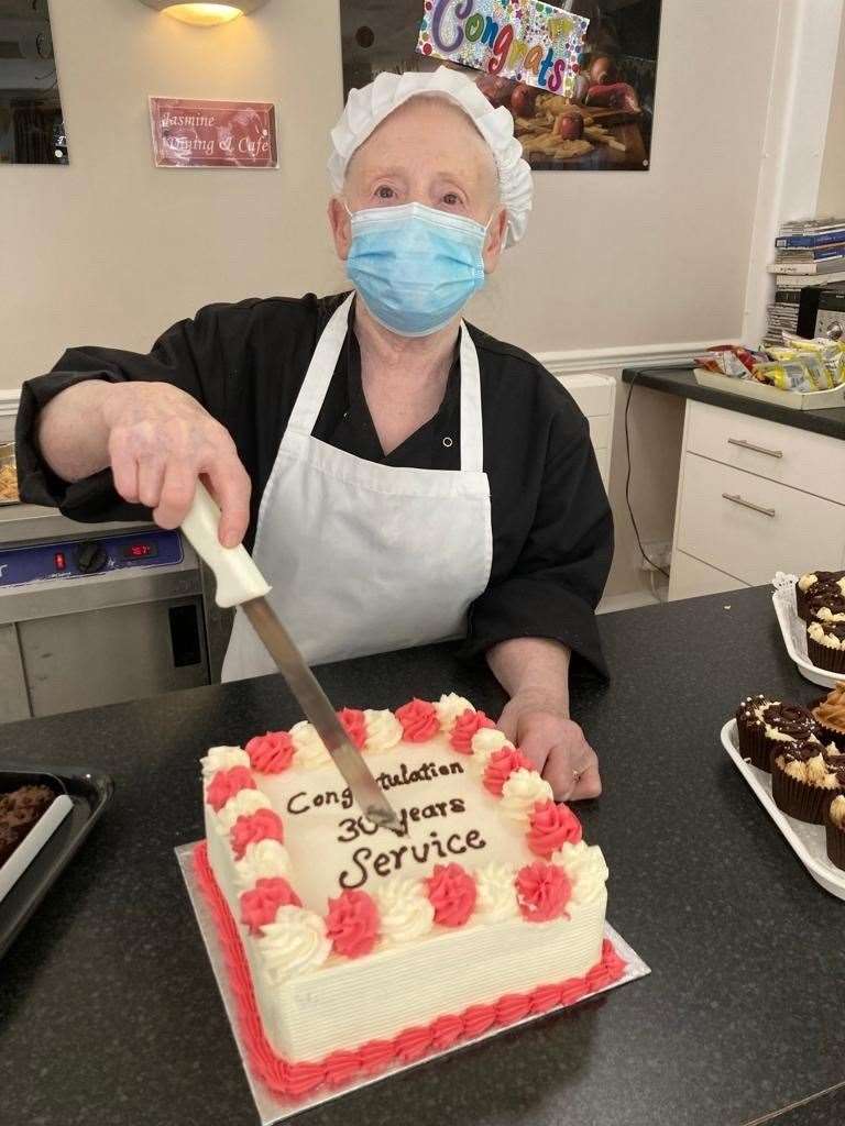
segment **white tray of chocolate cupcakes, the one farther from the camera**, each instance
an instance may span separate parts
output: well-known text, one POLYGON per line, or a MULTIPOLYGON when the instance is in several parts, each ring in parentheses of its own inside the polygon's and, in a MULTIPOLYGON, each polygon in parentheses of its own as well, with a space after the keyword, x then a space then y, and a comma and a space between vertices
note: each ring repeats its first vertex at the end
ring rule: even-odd
POLYGON ((779 571, 772 586, 783 643, 801 676, 822 688, 845 680, 845 571, 779 571))

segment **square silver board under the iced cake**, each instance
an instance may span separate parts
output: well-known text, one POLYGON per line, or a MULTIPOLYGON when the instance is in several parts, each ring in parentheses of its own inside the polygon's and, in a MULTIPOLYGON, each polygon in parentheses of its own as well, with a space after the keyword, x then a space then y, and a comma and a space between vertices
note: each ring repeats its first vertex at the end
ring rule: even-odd
MULTIPOLYGON (((237 1002, 234 994, 229 986, 229 977, 226 974, 223 950, 221 949, 220 939, 217 938, 217 930, 194 872, 194 849, 198 843, 199 841, 195 841, 193 844, 180 844, 175 850, 176 858, 179 863, 181 874, 185 878, 185 884, 188 888, 188 899, 194 908, 194 914, 196 915, 199 932, 202 933, 203 941, 205 942, 205 948, 208 951, 208 959, 211 960, 214 976, 217 980, 217 989, 220 990, 220 995, 223 999, 223 1007, 226 1011, 226 1016, 229 1017, 229 1024, 232 1026, 232 1036, 234 1037, 234 1043, 238 1046, 238 1052, 240 1053, 243 1071, 247 1075, 249 1089, 252 1092, 252 1098, 256 1103, 256 1110, 258 1111, 261 1126, 273 1126, 274 1123, 281 1123, 287 1118, 293 1118, 294 1115, 302 1114, 305 1110, 311 1110, 313 1107, 319 1107, 323 1102, 330 1102, 332 1099, 339 1099, 344 1094, 348 1094, 350 1091, 357 1091, 361 1088, 370 1087, 373 1083, 381 1083, 383 1080, 390 1079, 392 1075, 398 1075, 400 1072, 410 1071, 412 1067, 421 1067, 425 1064, 430 1063, 433 1060, 453 1055, 462 1048, 471 1047, 473 1044, 480 1044, 482 1040, 487 1040, 491 1036, 498 1036, 500 1033, 509 1033, 513 1028, 518 1028, 521 1025, 527 1025, 532 1020, 540 1020, 541 1018, 548 1017, 550 1013, 559 1011, 563 1008, 563 1006, 558 1006, 557 1009, 549 1009, 546 1012, 532 1013, 532 1016, 524 1017, 522 1020, 515 1020, 510 1025, 504 1025, 499 1028, 490 1028, 487 1031, 481 1033, 481 1035, 463 1039, 460 1044, 455 1044, 450 1048, 444 1048, 441 1052, 432 1052, 422 1060, 416 1060, 412 1063, 399 1063, 388 1066, 383 1071, 380 1071, 377 1075, 364 1075, 337 1087, 323 1087, 299 1099, 285 1099, 276 1096, 269 1091, 259 1079, 256 1079, 247 1062, 247 1051, 241 1039, 240 1028, 238 1025, 237 1002)), ((576 1004, 580 1004, 582 1001, 586 1001, 592 997, 598 997, 599 993, 606 993, 608 990, 616 989, 617 985, 624 985, 628 982, 635 981, 638 977, 644 977, 647 974, 651 973, 639 954, 631 949, 628 942, 625 942, 625 940, 613 929, 613 927, 611 927, 610 923, 605 923, 605 938, 608 938, 613 942, 616 953, 620 957, 624 958, 625 972, 619 981, 613 982, 612 985, 605 985, 602 989, 595 990, 593 993, 586 993, 582 998, 578 999, 576 1004)))

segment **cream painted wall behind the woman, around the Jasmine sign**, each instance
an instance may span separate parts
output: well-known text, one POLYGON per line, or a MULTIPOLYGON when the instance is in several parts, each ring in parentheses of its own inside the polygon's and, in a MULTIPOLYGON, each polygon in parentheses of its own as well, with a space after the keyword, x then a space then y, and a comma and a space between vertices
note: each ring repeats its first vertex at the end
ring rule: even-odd
MULTIPOLYGON (((473 320, 532 351, 738 336, 775 7, 664 0, 650 170, 539 173, 528 234, 473 320)), ((146 349, 211 301, 343 286, 323 216, 337 0, 270 0, 212 30, 132 0, 51 0, 51 12, 71 164, 0 168, 0 387, 71 343, 146 349), (281 169, 154 169, 150 93, 275 101, 281 169)), ((643 393, 640 405, 643 449, 670 452, 678 404, 643 393)), ((619 432, 613 457, 620 591, 640 579, 619 432)), ((668 536, 674 485, 668 455, 635 480, 648 538, 668 536)))

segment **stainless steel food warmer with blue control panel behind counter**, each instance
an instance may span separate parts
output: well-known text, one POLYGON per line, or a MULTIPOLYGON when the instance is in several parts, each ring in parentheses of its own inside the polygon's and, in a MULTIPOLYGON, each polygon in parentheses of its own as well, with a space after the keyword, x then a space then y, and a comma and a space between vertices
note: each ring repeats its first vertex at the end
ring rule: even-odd
POLYGON ((0 722, 208 683, 223 644, 178 531, 0 509, 0 722))

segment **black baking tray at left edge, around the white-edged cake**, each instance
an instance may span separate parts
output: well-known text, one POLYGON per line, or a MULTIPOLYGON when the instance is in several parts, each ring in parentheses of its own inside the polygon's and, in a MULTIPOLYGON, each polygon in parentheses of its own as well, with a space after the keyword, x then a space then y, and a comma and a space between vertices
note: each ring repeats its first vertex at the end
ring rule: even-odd
POLYGON ((0 957, 91 831, 115 788, 108 775, 96 770, 69 771, 51 766, 34 770, 32 766, 9 766, 0 769, 0 789, 9 790, 36 781, 50 785, 51 778, 62 784, 73 808, 0 900, 0 957))

